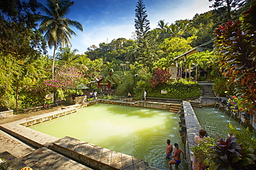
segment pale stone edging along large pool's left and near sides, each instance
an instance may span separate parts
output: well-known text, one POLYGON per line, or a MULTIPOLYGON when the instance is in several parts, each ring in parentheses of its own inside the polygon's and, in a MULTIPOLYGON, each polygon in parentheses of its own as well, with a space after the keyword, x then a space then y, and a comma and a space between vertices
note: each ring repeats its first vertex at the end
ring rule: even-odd
MULTIPOLYGON (((82 140, 77 140, 68 136, 61 139, 55 138, 53 136, 28 128, 30 125, 41 123, 46 120, 51 120, 66 114, 72 114, 77 112, 78 108, 94 105, 97 103, 100 103, 100 100, 84 103, 82 105, 71 105, 51 113, 34 116, 32 118, 24 118, 12 123, 0 125, 0 129, 21 140, 22 142, 35 147, 36 149, 47 147, 48 149, 56 151, 57 153, 60 153, 93 169, 158 169, 156 167, 148 167, 147 162, 144 160, 135 158, 133 156, 128 156, 124 153, 111 151, 109 149, 89 144, 82 140), (82 152, 77 152, 74 150, 76 148, 75 144, 77 144, 77 142, 86 143, 87 147, 84 146, 82 148, 82 152)), ((131 105, 134 104, 131 103, 131 105)))

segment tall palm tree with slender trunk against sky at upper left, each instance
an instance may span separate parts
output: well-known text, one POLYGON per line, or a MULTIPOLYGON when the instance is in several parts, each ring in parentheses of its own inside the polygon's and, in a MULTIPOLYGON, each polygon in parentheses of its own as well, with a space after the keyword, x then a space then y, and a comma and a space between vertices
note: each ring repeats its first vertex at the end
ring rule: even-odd
POLYGON ((74 2, 69 0, 46 0, 47 7, 39 4, 40 10, 44 11, 46 15, 39 15, 39 21, 42 23, 39 26, 39 31, 44 34, 44 39, 48 43, 48 46, 54 47, 53 50, 53 74, 54 74, 54 62, 55 52, 57 47, 71 44, 69 39, 71 35, 77 36, 70 26, 74 26, 78 30, 83 30, 81 23, 78 21, 72 21, 66 18, 66 15, 70 12, 71 6, 74 2))

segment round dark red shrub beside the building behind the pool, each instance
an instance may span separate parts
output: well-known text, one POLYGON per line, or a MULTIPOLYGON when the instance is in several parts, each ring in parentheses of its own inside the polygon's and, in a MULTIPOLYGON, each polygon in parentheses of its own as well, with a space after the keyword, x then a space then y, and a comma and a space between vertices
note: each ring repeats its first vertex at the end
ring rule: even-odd
POLYGON ((159 84, 168 83, 172 74, 167 69, 162 69, 158 67, 158 69, 154 70, 152 74, 152 78, 150 79, 150 83, 152 83, 151 87, 156 87, 159 84))

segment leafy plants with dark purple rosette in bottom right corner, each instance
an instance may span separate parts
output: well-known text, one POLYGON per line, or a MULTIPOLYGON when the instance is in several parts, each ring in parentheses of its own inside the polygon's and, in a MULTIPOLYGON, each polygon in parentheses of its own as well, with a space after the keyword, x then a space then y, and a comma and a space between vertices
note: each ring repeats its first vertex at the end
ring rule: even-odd
POLYGON ((190 148, 195 156, 194 169, 255 169, 255 131, 235 129, 230 124, 231 136, 214 140, 204 138, 190 148))

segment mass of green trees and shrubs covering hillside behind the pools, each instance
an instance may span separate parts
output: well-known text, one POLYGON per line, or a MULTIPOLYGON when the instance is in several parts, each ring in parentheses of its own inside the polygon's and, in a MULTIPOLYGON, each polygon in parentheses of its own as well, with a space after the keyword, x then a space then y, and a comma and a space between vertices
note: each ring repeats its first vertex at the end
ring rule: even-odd
MULTIPOLYGON (((246 1, 242 7, 231 8, 232 21, 238 19, 241 12, 248 10, 253 2, 255 1, 246 1)), ((57 50, 57 47, 68 44, 71 35, 75 32, 69 28, 69 25, 64 25, 68 32, 66 32, 66 36, 63 36, 64 32, 58 32, 58 25, 53 23, 54 16, 59 16, 57 19, 60 23, 67 22, 78 30, 82 30, 80 23, 74 23, 64 17, 71 11, 73 2, 54 0, 49 1, 47 6, 42 6, 35 0, 31 0, 29 3, 20 1, 6 3, 0 0, 0 4, 0 65, 2 69, 0 72, 0 95, 2 96, 0 107, 14 108, 16 105, 16 109, 19 109, 41 105, 46 94, 55 92, 55 97, 64 97, 75 93, 72 87, 80 84, 87 85, 89 90, 93 91, 97 88, 95 78, 105 78, 105 81, 110 81, 112 87, 115 87, 121 96, 130 92, 131 96, 136 96, 136 98, 140 98, 143 89, 147 90, 148 96, 153 97, 190 98, 200 96, 200 85, 191 80, 214 79, 216 80, 214 86, 216 90, 219 90, 221 86, 217 85, 221 85, 221 83, 228 85, 228 79, 223 78, 219 72, 221 60, 219 52, 212 52, 212 43, 201 46, 204 52, 192 54, 187 56, 186 60, 178 61, 177 64, 183 72, 182 78, 185 78, 186 81, 170 82, 171 74, 169 72, 170 65, 175 65, 174 58, 214 39, 213 32, 217 28, 216 21, 221 25, 226 22, 223 16, 226 16, 228 11, 223 10, 223 5, 203 14, 196 14, 191 20, 179 20, 174 23, 161 20, 158 22, 157 28, 149 30, 145 5, 143 1, 138 1, 136 6, 136 23, 138 24, 136 26, 137 28, 143 27, 143 30, 138 29, 140 38, 134 37, 129 40, 118 38, 113 39, 110 43, 100 43, 98 47, 91 45, 85 54, 77 54, 77 50, 71 49, 71 46, 61 47, 56 53, 55 62, 55 52, 53 57, 42 55, 45 52, 46 43, 42 39, 42 34, 35 29, 36 21, 37 19, 42 21, 39 30, 44 32, 44 38, 49 47, 53 46, 57 50), (60 9, 56 8, 56 3, 60 3, 60 9), (45 12, 45 15, 39 15, 40 10, 45 12), (52 24, 47 25, 46 21, 52 24), (140 21, 145 22, 141 23, 140 21), (51 30, 57 31, 56 34, 51 34, 53 33, 51 30), (22 36, 19 33, 21 31, 23 32, 22 36), (53 67, 57 68, 56 77, 51 74, 53 67), (60 74, 60 68, 66 67, 77 70, 77 75, 79 74, 80 77, 71 78, 72 70, 65 70, 60 74), (162 75, 163 72, 156 73, 155 70, 158 68, 165 70, 165 76, 162 75), (201 75, 202 70, 207 74, 201 75), (61 75, 66 75, 66 77, 61 75), (68 82, 67 77, 71 78, 71 81, 68 82), (50 81, 55 84, 49 83, 50 81), (56 81, 64 83, 64 86, 57 85, 56 81), (48 85, 46 85, 47 83, 48 85), (161 90, 167 91, 167 94, 161 94, 161 90)), ((249 13, 246 16, 250 18, 249 13)), ((239 23, 241 30, 246 34, 250 34, 249 30, 252 30, 253 27, 250 25, 249 18, 244 17, 239 23)), ((250 34, 250 37, 254 36, 250 34)), ((232 62, 230 61, 230 63, 232 62)), ((248 83, 248 81, 241 83, 248 83)), ((98 90, 100 91, 100 89, 98 90)), ((233 86, 228 85, 225 90, 218 93, 228 92, 227 94, 232 95, 233 90, 233 86)), ((82 91, 78 90, 78 92, 82 91)))

